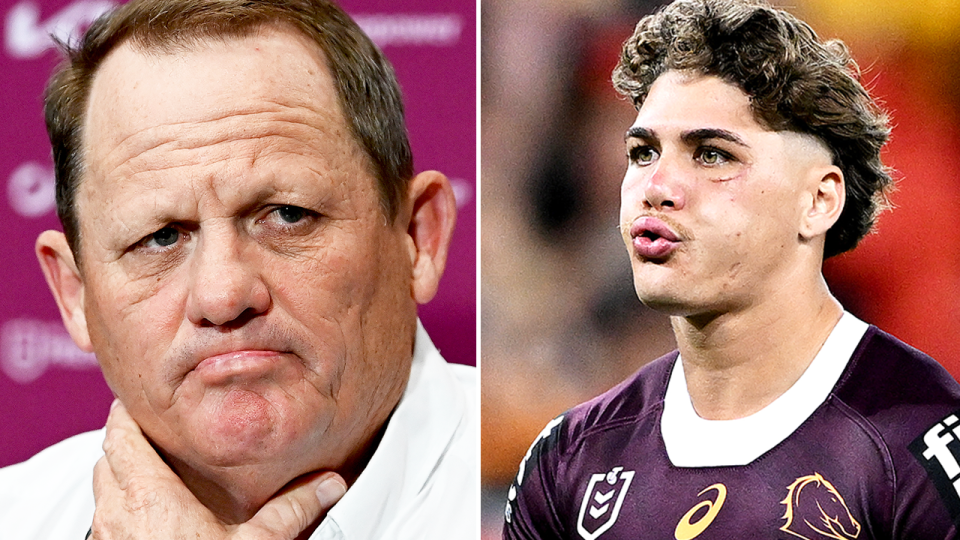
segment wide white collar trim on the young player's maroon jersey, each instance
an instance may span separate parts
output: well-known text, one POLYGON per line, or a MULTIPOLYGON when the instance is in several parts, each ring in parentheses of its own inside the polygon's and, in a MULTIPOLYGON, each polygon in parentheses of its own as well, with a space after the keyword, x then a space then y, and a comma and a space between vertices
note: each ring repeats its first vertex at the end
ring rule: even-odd
POLYGON ((844 312, 813 362, 786 392, 760 411, 736 420, 704 420, 687 391, 677 358, 663 400, 660 432, 676 467, 746 465, 789 437, 823 403, 868 325, 844 312))

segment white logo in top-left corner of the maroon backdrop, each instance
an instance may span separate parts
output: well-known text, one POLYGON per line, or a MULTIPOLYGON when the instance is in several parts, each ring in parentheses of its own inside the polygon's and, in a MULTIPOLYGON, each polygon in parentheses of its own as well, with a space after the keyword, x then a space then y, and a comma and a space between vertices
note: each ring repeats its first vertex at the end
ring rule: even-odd
POLYGON ((53 48, 51 35, 69 43, 79 36, 81 27, 115 5, 110 0, 79 0, 41 21, 39 4, 20 2, 7 12, 4 31, 7 53, 14 58, 36 58, 53 48))

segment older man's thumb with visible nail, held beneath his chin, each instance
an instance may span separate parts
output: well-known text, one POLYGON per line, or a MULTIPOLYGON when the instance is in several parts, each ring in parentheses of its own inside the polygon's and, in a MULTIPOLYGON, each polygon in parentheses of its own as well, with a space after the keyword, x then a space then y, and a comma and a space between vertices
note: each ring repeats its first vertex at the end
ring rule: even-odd
POLYGON ((326 515, 346 492, 347 483, 335 472, 325 472, 294 484, 238 527, 235 538, 292 540, 326 515))

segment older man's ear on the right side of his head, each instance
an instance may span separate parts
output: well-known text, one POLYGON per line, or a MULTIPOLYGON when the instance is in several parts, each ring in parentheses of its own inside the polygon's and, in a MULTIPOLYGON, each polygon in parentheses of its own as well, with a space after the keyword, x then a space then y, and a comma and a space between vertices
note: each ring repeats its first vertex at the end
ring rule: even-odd
POLYGON ((407 234, 413 263, 413 299, 425 304, 437 294, 457 221, 457 204, 447 177, 424 171, 410 181, 412 204, 407 234))

